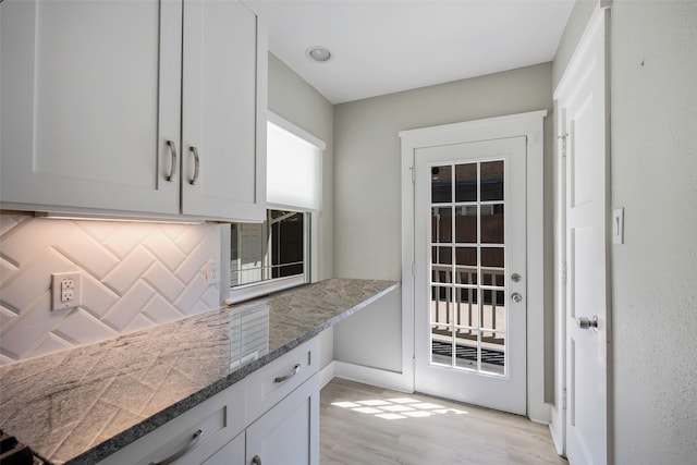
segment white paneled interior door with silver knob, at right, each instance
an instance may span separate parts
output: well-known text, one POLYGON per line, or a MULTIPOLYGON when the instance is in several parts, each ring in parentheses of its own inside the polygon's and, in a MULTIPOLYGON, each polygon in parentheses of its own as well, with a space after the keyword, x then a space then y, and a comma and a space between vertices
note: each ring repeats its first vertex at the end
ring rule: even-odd
POLYGON ((560 84, 566 156, 566 455, 609 462, 608 139, 606 13, 589 26, 560 84))

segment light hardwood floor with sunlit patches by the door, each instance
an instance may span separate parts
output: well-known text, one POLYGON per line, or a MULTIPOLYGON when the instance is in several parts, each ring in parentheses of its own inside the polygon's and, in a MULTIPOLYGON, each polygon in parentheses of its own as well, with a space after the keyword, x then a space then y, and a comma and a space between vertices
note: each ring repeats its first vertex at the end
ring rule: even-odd
POLYGON ((567 464, 548 427, 517 415, 338 378, 320 403, 320 465, 567 464))

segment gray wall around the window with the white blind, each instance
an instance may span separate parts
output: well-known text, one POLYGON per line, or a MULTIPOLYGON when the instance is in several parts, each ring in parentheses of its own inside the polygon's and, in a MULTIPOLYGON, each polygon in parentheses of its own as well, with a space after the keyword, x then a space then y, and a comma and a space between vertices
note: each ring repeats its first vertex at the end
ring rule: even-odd
MULTIPOLYGON (((320 213, 319 279, 334 276, 333 259, 333 121, 334 107, 314 87, 269 53, 269 109, 327 143, 320 213)), ((333 359, 333 331, 320 336, 320 366, 333 359)))

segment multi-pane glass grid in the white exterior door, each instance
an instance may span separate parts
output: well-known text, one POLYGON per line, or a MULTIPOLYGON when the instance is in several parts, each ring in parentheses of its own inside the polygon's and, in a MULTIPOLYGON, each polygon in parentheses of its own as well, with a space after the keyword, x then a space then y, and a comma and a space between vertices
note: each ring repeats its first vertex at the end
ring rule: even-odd
POLYGON ((503 172, 504 160, 431 167, 433 364, 506 375, 503 172))

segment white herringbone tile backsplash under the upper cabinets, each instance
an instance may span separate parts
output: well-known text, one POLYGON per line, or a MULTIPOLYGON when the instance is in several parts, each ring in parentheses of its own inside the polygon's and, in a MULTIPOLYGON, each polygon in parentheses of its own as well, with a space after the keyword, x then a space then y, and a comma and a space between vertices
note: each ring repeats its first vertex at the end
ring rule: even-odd
POLYGON ((0 215, 0 365, 219 308, 220 228, 0 215), (64 271, 83 272, 83 305, 51 311, 64 271))

